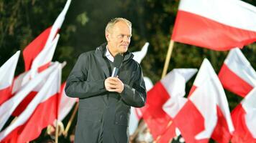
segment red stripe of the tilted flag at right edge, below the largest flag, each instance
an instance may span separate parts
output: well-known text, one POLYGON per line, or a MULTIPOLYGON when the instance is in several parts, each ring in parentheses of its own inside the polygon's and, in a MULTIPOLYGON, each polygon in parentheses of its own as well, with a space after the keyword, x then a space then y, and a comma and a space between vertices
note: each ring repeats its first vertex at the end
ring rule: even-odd
POLYGON ((253 88, 250 84, 231 71, 226 64, 223 64, 218 76, 224 89, 227 89, 234 94, 238 94, 241 97, 245 97, 253 88))

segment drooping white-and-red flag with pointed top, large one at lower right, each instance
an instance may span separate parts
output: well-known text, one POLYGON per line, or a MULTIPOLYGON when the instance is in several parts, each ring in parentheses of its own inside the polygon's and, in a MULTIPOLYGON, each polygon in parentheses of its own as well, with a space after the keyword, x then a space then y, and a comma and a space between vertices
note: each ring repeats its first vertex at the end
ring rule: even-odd
POLYGON ((229 142, 234 131, 227 97, 210 62, 204 59, 188 97, 173 122, 186 142, 229 142))

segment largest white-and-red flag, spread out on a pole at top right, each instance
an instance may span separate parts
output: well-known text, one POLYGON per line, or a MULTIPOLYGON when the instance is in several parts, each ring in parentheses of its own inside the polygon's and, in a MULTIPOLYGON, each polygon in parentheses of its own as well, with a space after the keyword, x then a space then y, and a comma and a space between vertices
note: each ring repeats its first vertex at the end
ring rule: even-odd
POLYGON ((256 41, 256 7, 240 0, 181 0, 172 39, 214 50, 256 41), (239 20, 237 20, 239 19, 239 20))

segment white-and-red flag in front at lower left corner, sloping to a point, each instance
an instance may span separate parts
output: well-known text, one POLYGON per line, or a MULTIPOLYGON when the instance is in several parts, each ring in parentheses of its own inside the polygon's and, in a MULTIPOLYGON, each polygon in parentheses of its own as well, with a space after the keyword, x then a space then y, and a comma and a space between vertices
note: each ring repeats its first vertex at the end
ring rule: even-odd
POLYGON ((36 139, 48 124, 52 124, 58 114, 60 78, 61 65, 58 64, 27 109, 0 132, 1 142, 29 142, 36 139))

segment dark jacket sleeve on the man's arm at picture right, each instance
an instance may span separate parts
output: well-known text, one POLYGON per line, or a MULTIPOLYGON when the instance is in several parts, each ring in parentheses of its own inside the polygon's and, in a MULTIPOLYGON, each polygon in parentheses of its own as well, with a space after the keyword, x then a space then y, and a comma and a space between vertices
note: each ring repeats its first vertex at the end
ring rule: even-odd
POLYGON ((144 107, 147 97, 147 92, 145 88, 145 82, 143 79, 142 69, 140 64, 138 64, 138 69, 135 74, 135 81, 132 87, 124 84, 124 90, 121 93, 121 97, 132 107, 144 107))

